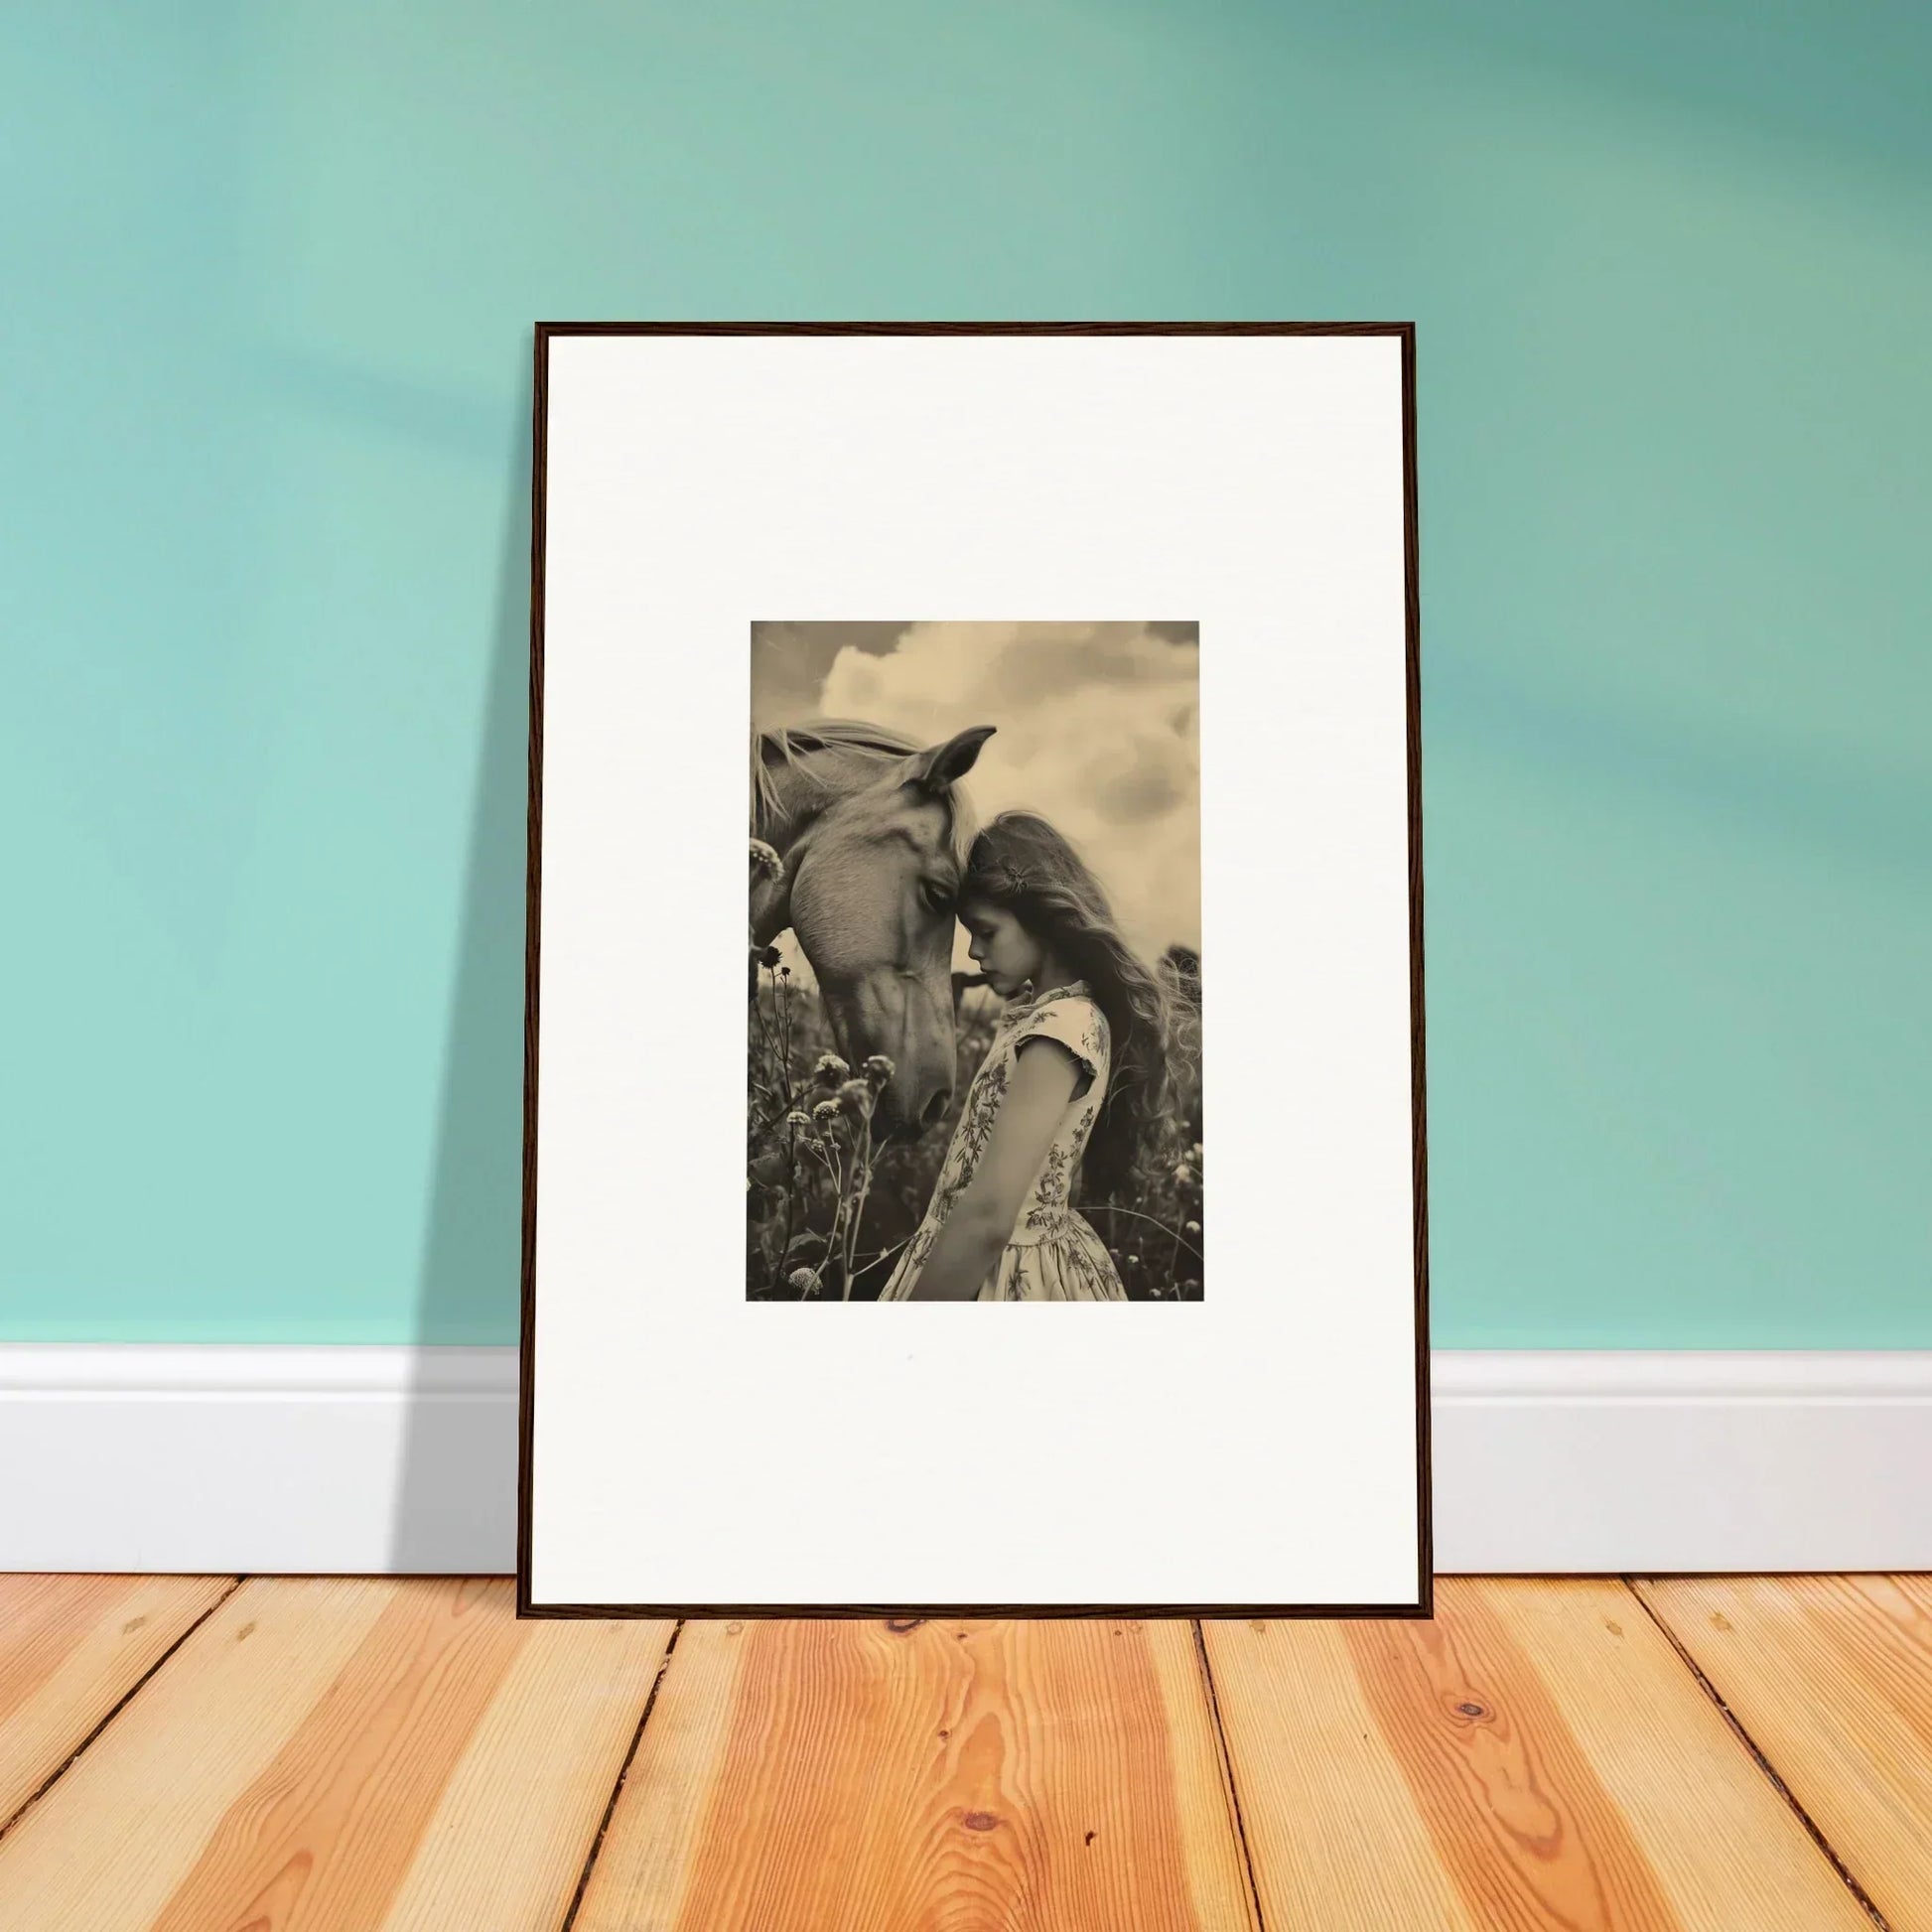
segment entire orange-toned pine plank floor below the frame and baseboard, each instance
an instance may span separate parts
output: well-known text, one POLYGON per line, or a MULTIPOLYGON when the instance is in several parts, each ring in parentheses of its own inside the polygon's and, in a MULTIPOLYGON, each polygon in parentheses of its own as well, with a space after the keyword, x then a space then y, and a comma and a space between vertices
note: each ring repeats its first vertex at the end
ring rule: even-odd
POLYGON ((0 1577, 6 1932, 1932 1932, 1932 1584, 518 1623, 0 1577))

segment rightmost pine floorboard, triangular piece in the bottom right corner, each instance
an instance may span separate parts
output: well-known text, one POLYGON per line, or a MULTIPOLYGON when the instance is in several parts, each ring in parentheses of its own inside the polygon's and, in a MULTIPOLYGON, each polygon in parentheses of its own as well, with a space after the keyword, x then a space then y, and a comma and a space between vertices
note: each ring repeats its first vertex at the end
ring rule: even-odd
POLYGON ((1636 1588, 1893 1932, 1932 1928, 1932 1577, 1636 1588))

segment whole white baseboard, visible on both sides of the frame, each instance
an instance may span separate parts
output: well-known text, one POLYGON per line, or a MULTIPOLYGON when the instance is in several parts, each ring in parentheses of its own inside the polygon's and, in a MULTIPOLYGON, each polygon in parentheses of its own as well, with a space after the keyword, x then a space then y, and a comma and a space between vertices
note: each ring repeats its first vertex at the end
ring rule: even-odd
MULTIPOLYGON (((1443 1575, 1932 1569, 1932 1350, 1434 1379, 1443 1575)), ((0 1468, 0 1571, 500 1575, 516 1350, 8 1343, 0 1468)))

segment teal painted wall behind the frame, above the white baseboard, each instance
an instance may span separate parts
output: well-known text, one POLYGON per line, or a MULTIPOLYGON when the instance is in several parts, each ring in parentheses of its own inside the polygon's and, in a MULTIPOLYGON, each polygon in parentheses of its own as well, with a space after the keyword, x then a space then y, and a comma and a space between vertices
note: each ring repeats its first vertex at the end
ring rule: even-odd
POLYGON ((0 1335, 514 1337, 535 317, 1393 315, 1437 1341, 1932 1345, 1932 10, 1689 14, 15 0, 0 1335))

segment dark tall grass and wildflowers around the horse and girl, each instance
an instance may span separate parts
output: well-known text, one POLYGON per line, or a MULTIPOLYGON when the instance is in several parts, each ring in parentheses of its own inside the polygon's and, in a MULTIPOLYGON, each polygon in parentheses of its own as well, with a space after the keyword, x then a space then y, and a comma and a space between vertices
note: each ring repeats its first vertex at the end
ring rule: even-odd
MULTIPOLYGON (((1173 954, 1163 962, 1182 1045, 1157 1144, 1117 1200, 1074 1196, 1130 1300, 1202 1298, 1200 968, 1192 956, 1184 966, 1173 954)), ((952 1107, 908 1146, 871 1130, 891 1063, 873 1057, 848 1066, 817 993, 773 949, 752 954, 748 991, 746 1293, 752 1300, 875 1300, 931 1200, 1001 1003, 954 976, 952 1107)))

